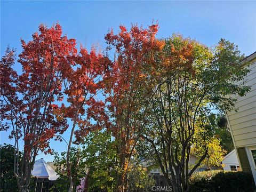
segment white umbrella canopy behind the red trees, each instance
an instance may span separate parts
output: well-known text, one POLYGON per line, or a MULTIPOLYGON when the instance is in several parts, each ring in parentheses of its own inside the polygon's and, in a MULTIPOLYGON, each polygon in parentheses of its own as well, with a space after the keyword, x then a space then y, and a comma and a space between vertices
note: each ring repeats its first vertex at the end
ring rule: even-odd
POLYGON ((59 175, 48 165, 43 158, 35 161, 31 174, 37 178, 48 178, 49 180, 57 180, 59 175))

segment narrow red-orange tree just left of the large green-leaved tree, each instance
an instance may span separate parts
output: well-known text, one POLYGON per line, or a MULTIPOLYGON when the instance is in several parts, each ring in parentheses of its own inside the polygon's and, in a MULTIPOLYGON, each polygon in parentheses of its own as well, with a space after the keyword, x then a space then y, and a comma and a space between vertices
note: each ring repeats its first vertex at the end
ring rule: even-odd
POLYGON ((151 66, 155 52, 163 47, 156 39, 158 25, 146 29, 133 25, 131 30, 120 26, 117 35, 111 30, 105 37, 109 49, 114 46, 116 59, 105 78, 110 130, 116 139, 120 170, 116 177, 116 191, 127 190, 127 173, 139 139, 153 85, 151 66), (142 107, 143 106, 143 107, 142 107))

